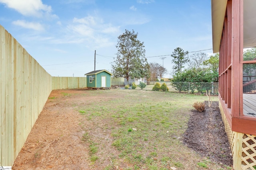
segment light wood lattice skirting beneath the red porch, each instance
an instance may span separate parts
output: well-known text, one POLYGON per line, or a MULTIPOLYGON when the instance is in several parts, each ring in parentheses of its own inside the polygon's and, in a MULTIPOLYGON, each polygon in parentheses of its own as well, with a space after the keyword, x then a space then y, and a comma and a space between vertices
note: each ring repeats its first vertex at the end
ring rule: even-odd
POLYGON ((232 151, 233 166, 235 170, 256 169, 256 136, 238 133, 231 130, 226 115, 220 106, 220 113, 228 136, 230 150, 232 151), (255 167, 255 168, 254 168, 255 167))

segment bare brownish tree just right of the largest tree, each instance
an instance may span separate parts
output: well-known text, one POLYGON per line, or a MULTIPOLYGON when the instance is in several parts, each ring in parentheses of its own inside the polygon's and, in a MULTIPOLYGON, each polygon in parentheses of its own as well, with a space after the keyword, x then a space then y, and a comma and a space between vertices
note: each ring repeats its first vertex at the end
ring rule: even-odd
POLYGON ((150 76, 149 81, 157 81, 157 76, 162 77, 163 74, 167 72, 166 68, 162 67, 158 63, 149 63, 150 66, 150 76))

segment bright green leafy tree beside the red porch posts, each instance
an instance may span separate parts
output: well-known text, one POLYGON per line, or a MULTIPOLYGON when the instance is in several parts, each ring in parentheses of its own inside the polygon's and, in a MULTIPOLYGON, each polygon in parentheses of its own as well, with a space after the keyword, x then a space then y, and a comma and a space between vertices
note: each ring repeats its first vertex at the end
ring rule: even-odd
POLYGON ((203 62, 205 66, 208 66, 207 71, 211 74, 213 82, 218 82, 219 80, 219 58, 219 53, 216 53, 203 62))

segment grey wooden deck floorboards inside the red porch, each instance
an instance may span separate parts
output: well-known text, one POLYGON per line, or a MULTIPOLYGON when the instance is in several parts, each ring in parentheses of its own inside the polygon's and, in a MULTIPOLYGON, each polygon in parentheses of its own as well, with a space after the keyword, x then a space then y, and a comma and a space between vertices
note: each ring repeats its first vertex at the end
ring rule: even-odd
POLYGON ((244 115, 256 117, 256 94, 243 94, 244 115))

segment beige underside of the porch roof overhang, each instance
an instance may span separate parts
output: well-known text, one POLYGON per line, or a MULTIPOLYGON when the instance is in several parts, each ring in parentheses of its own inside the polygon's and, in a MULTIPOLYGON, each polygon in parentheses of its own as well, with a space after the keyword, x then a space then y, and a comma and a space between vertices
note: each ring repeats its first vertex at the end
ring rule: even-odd
MULTIPOLYGON (((212 0, 212 46, 213 52, 220 49, 220 39, 226 12, 227 0, 212 0)), ((244 0, 244 48, 256 47, 256 1, 244 0)))

